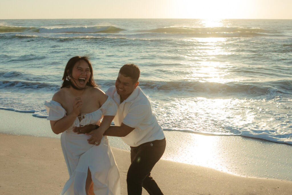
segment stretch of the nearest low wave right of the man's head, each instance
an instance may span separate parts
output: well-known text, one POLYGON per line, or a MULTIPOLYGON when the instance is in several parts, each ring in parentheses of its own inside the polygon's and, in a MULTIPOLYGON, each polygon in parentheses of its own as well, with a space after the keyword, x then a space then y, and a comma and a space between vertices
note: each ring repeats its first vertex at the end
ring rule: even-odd
POLYGON ((202 96, 232 96, 249 94, 252 96, 292 94, 292 81, 273 82, 199 82, 199 81, 145 81, 139 86, 145 89, 169 92, 192 92, 202 96))

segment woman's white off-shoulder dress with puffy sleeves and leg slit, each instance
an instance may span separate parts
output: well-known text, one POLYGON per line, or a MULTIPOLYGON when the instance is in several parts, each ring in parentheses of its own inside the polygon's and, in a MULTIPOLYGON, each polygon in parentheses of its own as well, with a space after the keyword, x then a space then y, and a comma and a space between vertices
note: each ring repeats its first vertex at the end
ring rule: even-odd
MULTIPOLYGON (((47 120, 59 120, 66 116, 65 109, 56 101, 46 101, 45 106, 48 112, 47 120)), ((88 168, 91 171, 95 195, 120 194, 119 170, 107 137, 103 136, 100 145, 95 146, 88 144, 90 135, 72 131, 74 127, 95 124, 102 116, 114 116, 116 113, 117 105, 108 96, 107 101, 98 110, 77 117, 71 127, 62 133, 61 145, 70 177, 60 194, 86 195, 88 168)))

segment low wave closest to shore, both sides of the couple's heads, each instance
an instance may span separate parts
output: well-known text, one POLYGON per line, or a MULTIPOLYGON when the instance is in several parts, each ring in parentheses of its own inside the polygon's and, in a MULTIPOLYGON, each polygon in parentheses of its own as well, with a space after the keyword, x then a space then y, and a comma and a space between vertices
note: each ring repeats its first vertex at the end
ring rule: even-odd
MULTIPOLYGON (((98 80, 103 87, 109 80, 98 80)), ((199 81, 141 81, 139 86, 142 89, 150 89, 154 91, 164 92, 189 92, 200 96, 237 96, 237 95, 252 95, 262 96, 271 95, 279 96, 281 94, 292 94, 292 81, 280 80, 273 82, 199 82, 199 81)), ((46 89, 56 91, 60 85, 43 83, 43 82, 27 82, 27 81, 0 81, 1 88, 28 88, 28 89, 46 89)))

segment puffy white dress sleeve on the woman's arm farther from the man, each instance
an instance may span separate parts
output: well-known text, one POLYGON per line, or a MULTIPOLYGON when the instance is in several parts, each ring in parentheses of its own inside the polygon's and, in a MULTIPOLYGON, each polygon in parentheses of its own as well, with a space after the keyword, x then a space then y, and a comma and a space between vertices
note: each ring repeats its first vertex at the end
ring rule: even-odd
POLYGON ((60 120, 67 113, 59 102, 53 100, 51 100, 50 102, 45 101, 44 105, 48 112, 47 120, 60 120))

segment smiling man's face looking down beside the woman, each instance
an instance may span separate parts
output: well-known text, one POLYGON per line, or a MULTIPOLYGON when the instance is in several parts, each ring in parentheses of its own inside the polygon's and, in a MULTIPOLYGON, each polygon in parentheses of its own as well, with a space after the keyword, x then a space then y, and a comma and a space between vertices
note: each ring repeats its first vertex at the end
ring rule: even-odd
POLYGON ((134 89, 136 89, 138 84, 139 82, 133 82, 131 77, 125 77, 124 75, 119 73, 115 86, 117 89, 117 93, 121 96, 123 100, 125 100, 128 98, 128 96, 131 95, 134 89))

